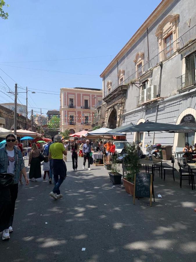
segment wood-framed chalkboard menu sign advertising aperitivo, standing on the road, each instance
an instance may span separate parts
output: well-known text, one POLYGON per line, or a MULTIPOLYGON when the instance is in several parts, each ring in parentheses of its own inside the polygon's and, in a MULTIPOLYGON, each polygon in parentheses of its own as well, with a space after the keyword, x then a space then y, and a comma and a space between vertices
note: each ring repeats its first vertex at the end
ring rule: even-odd
POLYGON ((143 173, 143 172, 135 174, 134 204, 135 204, 135 197, 138 197, 138 198, 139 197, 150 197, 150 206, 152 206, 152 194, 154 197, 152 174, 143 173))

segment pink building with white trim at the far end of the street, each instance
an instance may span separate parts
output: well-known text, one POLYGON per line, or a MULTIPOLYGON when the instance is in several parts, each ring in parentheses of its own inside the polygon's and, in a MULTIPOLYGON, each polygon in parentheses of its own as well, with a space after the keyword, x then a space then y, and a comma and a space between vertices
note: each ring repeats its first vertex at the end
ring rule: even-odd
POLYGON ((61 131, 70 133, 91 129, 94 120, 95 105, 102 99, 102 89, 61 88, 60 119, 61 131))

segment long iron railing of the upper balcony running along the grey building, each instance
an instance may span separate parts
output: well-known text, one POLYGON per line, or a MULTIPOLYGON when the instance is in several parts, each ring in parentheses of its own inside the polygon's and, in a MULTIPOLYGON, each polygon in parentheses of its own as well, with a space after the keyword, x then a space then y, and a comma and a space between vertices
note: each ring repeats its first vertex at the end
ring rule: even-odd
MULTIPOLYGON (((110 93, 114 91, 118 86, 128 85, 131 82, 135 81, 143 74, 147 73, 148 70, 154 68, 160 62, 168 59, 179 49, 185 47, 195 39, 196 39, 196 24, 193 27, 191 27, 188 31, 186 31, 183 35, 181 35, 177 40, 175 40, 173 43, 171 43, 169 46, 163 49, 159 54, 157 54, 152 59, 150 59, 150 61, 145 63, 141 68, 139 68, 139 70, 137 70, 132 75, 127 77, 127 79, 125 79, 123 82, 121 82, 120 84, 118 83, 118 81, 114 82, 114 84, 112 84, 112 87, 110 89, 110 93)), ((108 91, 106 89, 104 90, 104 97, 108 95, 108 91)))

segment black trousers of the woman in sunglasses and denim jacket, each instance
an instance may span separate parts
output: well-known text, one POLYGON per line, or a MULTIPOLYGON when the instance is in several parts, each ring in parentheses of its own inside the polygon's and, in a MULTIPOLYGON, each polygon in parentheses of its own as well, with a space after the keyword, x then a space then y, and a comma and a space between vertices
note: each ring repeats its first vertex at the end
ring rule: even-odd
POLYGON ((0 189, 0 232, 12 226, 17 196, 18 184, 0 189))

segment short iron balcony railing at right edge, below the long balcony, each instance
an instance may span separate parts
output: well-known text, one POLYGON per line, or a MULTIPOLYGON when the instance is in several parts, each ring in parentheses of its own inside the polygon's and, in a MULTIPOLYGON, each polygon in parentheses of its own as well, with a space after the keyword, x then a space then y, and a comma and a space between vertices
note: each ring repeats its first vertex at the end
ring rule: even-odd
POLYGON ((196 69, 177 77, 177 91, 196 84, 196 69))

